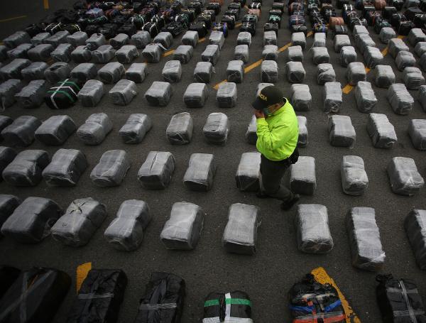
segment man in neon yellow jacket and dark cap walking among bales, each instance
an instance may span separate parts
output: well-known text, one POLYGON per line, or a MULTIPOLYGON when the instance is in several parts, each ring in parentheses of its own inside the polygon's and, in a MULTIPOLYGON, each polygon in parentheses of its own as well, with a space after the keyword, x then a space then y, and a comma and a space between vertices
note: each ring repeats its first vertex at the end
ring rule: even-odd
POLYGON ((253 102, 257 124, 256 148, 261 153, 261 191, 258 197, 283 201, 282 209, 290 209, 300 199, 281 180, 287 168, 297 162, 299 126, 293 106, 278 87, 263 87, 253 102))

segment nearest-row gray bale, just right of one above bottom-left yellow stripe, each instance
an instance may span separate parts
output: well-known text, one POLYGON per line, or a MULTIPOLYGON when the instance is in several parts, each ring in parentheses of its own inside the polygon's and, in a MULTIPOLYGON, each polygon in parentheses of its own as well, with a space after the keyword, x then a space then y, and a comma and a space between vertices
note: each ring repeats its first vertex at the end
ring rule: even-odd
POLYGON ((127 199, 121 203, 116 218, 105 230, 104 238, 119 251, 134 251, 141 245, 143 231, 151 219, 146 202, 127 199))

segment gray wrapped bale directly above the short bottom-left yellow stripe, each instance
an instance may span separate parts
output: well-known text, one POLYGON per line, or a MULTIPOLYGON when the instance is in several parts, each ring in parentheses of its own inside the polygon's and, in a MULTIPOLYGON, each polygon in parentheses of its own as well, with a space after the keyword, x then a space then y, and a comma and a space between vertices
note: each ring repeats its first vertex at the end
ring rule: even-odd
POLYGON ((105 205, 92 197, 75 199, 52 226, 53 239, 67 246, 84 246, 106 217, 105 205))

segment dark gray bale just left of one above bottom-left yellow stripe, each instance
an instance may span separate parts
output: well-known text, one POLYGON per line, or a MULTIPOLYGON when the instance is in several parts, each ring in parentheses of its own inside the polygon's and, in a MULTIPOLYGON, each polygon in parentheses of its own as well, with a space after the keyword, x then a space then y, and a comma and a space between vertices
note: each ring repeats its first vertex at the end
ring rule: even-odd
POLYGON ((62 214, 51 199, 27 197, 1 226, 1 234, 21 243, 38 243, 62 214))

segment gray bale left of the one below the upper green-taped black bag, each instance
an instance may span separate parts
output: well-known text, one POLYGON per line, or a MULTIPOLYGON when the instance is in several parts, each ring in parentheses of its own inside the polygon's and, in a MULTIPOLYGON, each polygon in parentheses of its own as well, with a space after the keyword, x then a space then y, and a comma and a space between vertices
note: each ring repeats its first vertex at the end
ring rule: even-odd
POLYGON ((18 116, 12 124, 1 131, 1 136, 9 146, 26 147, 34 141, 35 130, 41 121, 34 116, 18 116))

